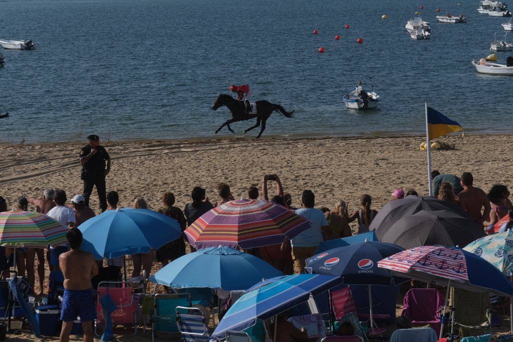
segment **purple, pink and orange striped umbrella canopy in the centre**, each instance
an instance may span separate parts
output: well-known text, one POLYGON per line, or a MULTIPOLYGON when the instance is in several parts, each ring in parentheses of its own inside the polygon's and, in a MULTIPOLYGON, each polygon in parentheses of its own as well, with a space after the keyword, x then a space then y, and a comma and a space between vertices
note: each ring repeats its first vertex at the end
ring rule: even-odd
POLYGON ((203 214, 185 230, 196 248, 257 248, 277 245, 285 237, 310 229, 308 220, 262 199, 232 200, 203 214))

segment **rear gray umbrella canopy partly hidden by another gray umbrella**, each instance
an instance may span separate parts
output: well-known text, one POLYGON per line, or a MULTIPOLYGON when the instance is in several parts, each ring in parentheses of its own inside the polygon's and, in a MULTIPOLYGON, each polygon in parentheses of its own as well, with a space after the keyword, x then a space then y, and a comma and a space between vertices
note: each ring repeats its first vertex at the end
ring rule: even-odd
POLYGON ((421 210, 436 211, 449 210, 460 216, 470 218, 458 205, 433 196, 409 195, 401 199, 394 199, 381 208, 370 224, 370 230, 374 230, 381 237, 401 218, 411 216, 421 210))

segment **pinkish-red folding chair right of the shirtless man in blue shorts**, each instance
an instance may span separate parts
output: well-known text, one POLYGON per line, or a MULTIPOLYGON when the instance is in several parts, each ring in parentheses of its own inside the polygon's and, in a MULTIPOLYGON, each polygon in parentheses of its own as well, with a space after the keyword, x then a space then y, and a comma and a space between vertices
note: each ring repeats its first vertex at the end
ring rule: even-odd
POLYGON ((98 284, 96 302, 96 319, 94 321, 94 333, 98 335, 97 329, 101 324, 105 325, 104 309, 101 305, 102 297, 109 294, 117 309, 110 317, 112 325, 130 324, 134 326, 134 333, 137 333, 135 315, 139 310, 139 302, 134 300, 132 284, 129 281, 102 281, 98 284), (112 287, 115 286, 115 287, 112 287))

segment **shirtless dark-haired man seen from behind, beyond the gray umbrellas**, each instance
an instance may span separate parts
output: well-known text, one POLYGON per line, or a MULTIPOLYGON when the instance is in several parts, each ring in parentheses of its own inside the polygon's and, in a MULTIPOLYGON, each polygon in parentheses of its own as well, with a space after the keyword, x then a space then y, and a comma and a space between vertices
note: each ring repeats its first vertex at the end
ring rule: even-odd
POLYGON ((490 220, 490 201, 486 197, 483 190, 472 186, 474 178, 470 172, 464 172, 461 176, 461 186, 463 191, 460 192, 458 198, 460 207, 467 212, 467 214, 484 229, 483 223, 490 220), (484 211, 481 214, 481 208, 484 211))

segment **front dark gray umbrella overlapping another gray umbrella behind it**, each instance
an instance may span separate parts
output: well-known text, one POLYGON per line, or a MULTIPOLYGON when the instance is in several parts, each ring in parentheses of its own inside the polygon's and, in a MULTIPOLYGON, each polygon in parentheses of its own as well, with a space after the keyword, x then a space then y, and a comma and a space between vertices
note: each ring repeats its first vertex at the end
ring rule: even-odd
POLYGON ((381 242, 404 249, 435 245, 463 248, 485 235, 472 219, 456 212, 421 210, 401 218, 381 237, 381 242))

